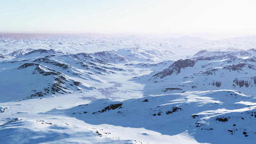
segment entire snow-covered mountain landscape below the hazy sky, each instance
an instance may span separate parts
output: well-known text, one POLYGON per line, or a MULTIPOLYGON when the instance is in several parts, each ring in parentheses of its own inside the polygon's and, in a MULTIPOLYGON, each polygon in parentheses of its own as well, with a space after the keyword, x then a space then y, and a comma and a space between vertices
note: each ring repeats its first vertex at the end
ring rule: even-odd
POLYGON ((0 37, 0 142, 253 144, 254 43, 0 37))

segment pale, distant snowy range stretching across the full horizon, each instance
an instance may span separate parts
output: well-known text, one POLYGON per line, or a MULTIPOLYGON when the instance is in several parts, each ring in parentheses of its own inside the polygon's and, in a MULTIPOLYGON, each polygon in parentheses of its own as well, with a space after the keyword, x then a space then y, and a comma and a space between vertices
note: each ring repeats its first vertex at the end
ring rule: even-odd
MULTIPOLYGON (((37 38, 10 37, 0 37, 0 53, 10 54, 14 50, 20 49, 55 49, 74 54, 141 48, 168 50, 174 53, 175 57, 184 58, 201 50, 220 49, 226 51, 228 49, 249 50, 256 48, 256 36, 234 37, 215 41, 193 36, 115 36, 103 34, 36 36, 37 38)), ((122 51, 120 52, 122 53, 122 51)), ((132 50, 127 54, 131 53, 132 50)))

